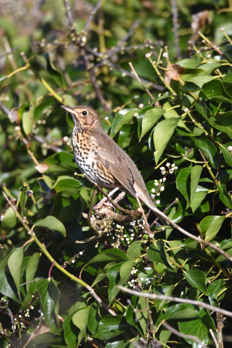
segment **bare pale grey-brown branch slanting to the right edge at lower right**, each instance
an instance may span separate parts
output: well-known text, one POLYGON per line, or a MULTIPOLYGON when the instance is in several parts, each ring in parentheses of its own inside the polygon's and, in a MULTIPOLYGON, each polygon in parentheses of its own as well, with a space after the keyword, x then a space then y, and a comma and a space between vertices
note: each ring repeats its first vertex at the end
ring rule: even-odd
POLYGON ((232 312, 230 312, 229 310, 225 310, 225 309, 222 309, 222 308, 217 308, 217 307, 211 306, 210 304, 205 303, 205 302, 179 298, 179 297, 176 297, 176 296, 166 296, 166 295, 151 294, 151 293, 147 293, 147 292, 140 292, 140 291, 137 291, 137 290, 128 289, 127 287, 124 287, 124 286, 121 286, 121 285, 118 285, 118 288, 120 290, 123 290, 123 291, 127 292, 130 295, 137 295, 137 296, 141 296, 141 297, 148 297, 148 298, 153 299, 153 300, 166 300, 166 301, 174 301, 174 302, 178 302, 178 303, 189 303, 189 304, 192 304, 193 306, 199 306, 199 307, 208 309, 210 311, 215 311, 216 313, 223 314, 226 317, 232 317, 232 312))

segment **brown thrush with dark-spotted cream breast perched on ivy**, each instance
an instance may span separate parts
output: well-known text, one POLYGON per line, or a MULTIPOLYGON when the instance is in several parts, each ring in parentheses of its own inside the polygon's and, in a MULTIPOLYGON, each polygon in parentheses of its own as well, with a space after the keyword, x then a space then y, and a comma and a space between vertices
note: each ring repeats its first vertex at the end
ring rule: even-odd
MULTIPOLYGON (((107 190, 125 191, 151 209, 163 225, 164 215, 153 203, 134 161, 104 131, 98 113, 90 106, 62 105, 73 120, 72 147, 80 171, 107 190), (162 214, 162 215, 161 215, 162 214)), ((142 211, 143 212, 143 211, 142 211)))

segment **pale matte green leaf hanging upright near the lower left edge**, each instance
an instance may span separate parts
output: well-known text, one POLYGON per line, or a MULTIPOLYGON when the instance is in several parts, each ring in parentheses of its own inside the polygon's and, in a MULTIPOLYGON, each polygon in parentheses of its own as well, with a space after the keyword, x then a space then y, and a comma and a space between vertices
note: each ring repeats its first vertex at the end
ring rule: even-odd
POLYGON ((17 288, 18 298, 20 299, 20 274, 21 266, 23 262, 23 248, 16 248, 10 255, 7 265, 9 267, 10 274, 14 279, 15 286, 17 288))

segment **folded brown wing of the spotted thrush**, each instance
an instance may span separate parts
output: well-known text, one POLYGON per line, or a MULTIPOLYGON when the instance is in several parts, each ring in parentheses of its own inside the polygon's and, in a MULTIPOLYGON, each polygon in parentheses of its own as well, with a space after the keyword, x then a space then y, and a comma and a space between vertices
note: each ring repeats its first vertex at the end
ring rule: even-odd
POLYGON ((92 133, 101 144, 94 154, 104 167, 125 187, 131 195, 135 196, 134 175, 127 161, 127 154, 105 132, 92 133))

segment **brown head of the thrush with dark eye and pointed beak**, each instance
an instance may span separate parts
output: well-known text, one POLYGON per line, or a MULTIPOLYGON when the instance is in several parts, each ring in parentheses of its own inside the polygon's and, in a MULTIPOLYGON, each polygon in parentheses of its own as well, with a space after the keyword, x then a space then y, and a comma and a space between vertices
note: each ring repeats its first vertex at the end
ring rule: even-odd
POLYGON ((61 107, 71 113, 74 127, 77 127, 79 131, 102 128, 98 113, 90 106, 80 105, 70 108, 70 106, 62 105, 61 107))

